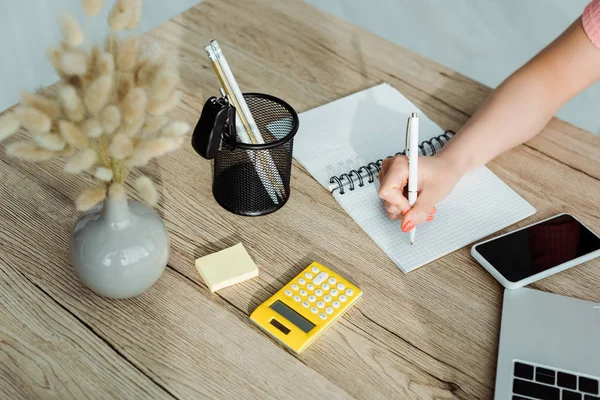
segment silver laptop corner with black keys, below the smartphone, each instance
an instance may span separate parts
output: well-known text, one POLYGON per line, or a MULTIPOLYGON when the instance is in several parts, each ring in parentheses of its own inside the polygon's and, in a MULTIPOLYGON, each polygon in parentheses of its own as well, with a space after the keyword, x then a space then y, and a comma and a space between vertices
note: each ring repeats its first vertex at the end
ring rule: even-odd
POLYGON ((497 400, 600 400, 600 303, 504 291, 497 400))

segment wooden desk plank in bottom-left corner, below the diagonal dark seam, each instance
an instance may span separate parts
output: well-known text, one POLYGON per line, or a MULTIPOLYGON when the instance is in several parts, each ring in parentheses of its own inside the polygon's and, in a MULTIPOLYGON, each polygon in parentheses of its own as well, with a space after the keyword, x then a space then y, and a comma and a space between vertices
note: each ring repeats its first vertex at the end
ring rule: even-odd
POLYGON ((0 397, 171 399, 0 255, 0 397))

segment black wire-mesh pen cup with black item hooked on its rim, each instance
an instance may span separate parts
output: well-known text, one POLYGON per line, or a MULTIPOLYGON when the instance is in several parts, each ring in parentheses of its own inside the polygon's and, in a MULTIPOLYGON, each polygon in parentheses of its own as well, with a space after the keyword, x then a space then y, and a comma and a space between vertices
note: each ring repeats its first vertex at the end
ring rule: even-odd
POLYGON ((235 107, 211 97, 192 135, 192 147, 214 158, 213 196, 232 213, 260 216, 277 211, 290 196, 292 149, 298 114, 281 99, 244 93, 264 143, 245 143, 236 129, 235 107))

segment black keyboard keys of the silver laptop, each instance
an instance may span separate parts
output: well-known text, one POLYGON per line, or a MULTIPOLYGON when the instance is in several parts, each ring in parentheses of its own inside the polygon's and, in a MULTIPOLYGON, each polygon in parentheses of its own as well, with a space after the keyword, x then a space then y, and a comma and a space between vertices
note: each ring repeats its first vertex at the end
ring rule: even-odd
POLYGON ((512 400, 600 400, 598 378, 516 361, 512 400))

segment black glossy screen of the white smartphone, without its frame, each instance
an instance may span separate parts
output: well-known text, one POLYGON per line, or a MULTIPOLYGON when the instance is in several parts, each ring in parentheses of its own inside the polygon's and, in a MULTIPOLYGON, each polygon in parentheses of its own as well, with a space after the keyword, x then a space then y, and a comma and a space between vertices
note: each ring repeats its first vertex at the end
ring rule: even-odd
POLYGON ((600 249, 600 238, 570 215, 482 243, 476 250, 507 280, 518 282, 600 249))

